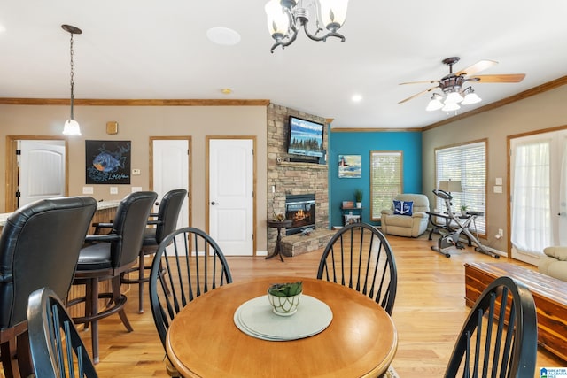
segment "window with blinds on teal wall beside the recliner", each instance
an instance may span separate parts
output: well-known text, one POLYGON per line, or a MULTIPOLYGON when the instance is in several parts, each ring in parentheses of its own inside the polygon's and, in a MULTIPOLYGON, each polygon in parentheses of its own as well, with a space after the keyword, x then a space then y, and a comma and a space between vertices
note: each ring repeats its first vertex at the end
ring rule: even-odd
POLYGON ((370 216, 381 217, 392 207, 393 197, 402 192, 402 152, 370 151, 370 216))

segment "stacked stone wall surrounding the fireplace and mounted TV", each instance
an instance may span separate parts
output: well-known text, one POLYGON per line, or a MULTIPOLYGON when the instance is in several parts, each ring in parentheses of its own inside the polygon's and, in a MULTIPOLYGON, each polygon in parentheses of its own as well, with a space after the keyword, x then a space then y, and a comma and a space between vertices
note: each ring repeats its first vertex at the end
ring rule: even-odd
MULTIPOLYGON (((323 149, 327 150, 326 120, 276 104, 268 105, 268 206, 267 218, 285 211, 288 194, 315 193, 315 228, 329 229, 329 168, 327 164, 290 162, 287 153, 289 116, 325 124, 323 149), (272 193, 272 187, 275 192, 272 193)), ((283 230, 282 230, 283 232, 283 230)), ((276 228, 268 228, 268 254, 276 245, 276 228)))

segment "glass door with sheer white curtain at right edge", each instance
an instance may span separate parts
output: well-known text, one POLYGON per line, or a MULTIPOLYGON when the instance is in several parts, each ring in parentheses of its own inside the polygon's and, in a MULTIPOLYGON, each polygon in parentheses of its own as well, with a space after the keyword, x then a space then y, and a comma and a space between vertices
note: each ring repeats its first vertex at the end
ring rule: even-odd
POLYGON ((545 247, 567 245, 567 130, 510 142, 512 257, 537 265, 545 247))

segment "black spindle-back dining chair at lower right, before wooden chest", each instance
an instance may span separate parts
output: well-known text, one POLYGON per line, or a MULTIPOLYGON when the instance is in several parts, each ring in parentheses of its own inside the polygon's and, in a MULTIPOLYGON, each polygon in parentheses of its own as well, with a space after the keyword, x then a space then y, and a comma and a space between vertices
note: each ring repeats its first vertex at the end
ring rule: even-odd
POLYGON ((532 293, 510 277, 495 279, 470 310, 447 365, 446 378, 532 378, 538 320, 532 293))

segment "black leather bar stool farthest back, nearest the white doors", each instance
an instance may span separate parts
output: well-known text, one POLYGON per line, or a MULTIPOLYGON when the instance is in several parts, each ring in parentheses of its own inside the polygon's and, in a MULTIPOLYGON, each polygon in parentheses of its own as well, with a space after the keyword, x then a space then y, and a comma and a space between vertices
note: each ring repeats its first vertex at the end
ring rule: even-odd
POLYGON ((150 281, 150 274, 145 274, 145 270, 150 270, 151 266, 145 265, 145 258, 158 251, 159 243, 177 228, 177 220, 185 197, 187 197, 187 190, 173 189, 161 198, 158 212, 150 214, 149 227, 144 230, 138 266, 122 274, 122 283, 136 283, 138 285, 139 313, 144 313, 144 283, 150 281), (137 274, 135 277, 130 277, 129 274, 125 276, 127 273, 137 274))

